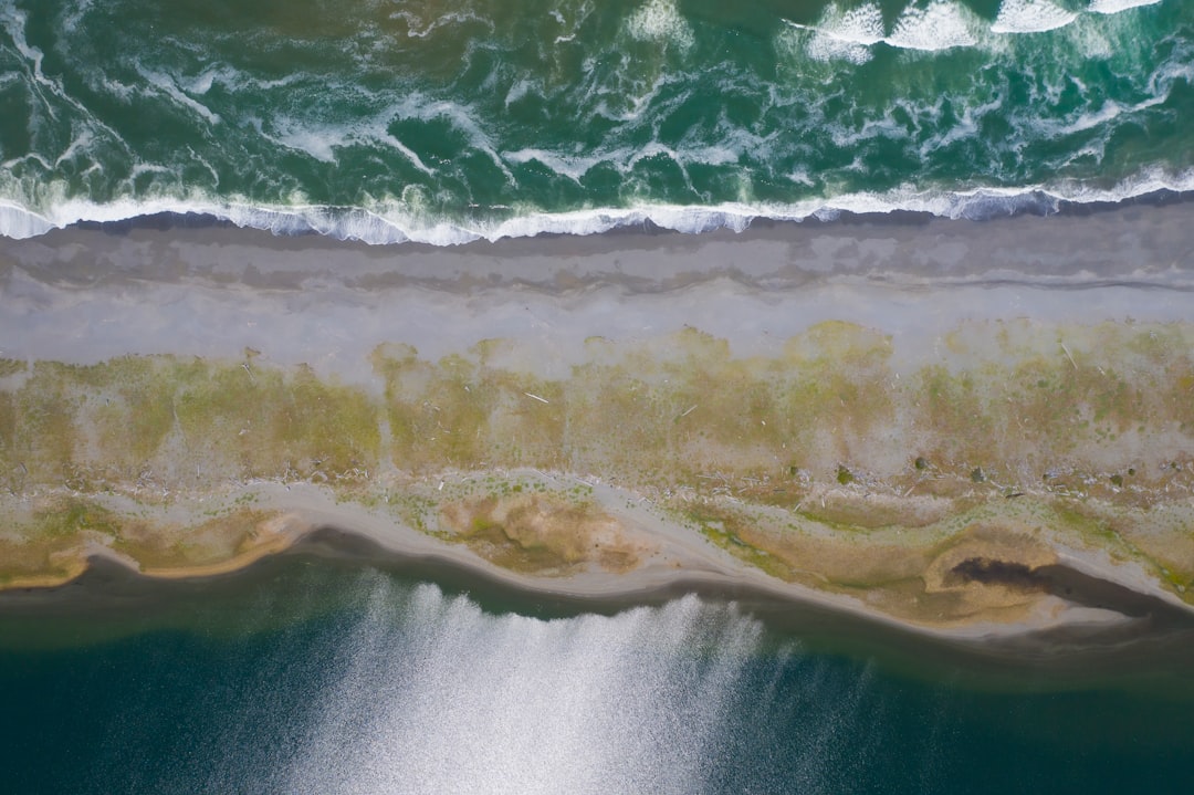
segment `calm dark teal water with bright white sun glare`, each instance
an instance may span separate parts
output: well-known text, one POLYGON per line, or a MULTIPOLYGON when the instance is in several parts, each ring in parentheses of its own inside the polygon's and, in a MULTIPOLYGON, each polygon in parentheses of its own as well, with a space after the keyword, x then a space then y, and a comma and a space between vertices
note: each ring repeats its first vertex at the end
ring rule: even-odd
POLYGON ((548 620, 373 569, 270 572, 141 610, 0 618, 4 790, 1188 785, 1188 668, 1079 684, 1023 667, 985 686, 930 646, 909 647, 924 676, 900 673, 696 597, 548 620))

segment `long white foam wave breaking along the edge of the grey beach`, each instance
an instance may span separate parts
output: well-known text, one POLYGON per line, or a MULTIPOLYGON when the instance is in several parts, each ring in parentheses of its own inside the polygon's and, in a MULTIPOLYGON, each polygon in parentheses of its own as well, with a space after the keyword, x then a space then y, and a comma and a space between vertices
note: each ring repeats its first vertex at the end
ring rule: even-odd
POLYGON ((541 236, 601 234, 700 234, 745 232, 752 227, 788 223, 925 223, 934 218, 985 222, 1017 216, 1085 216, 1133 207, 1194 201, 1194 172, 1177 179, 1145 179, 1133 190, 1090 191, 1066 196, 1046 190, 933 195, 907 201, 848 196, 824 203, 790 207, 642 205, 567 212, 535 212, 490 226, 466 227, 448 221, 394 221, 364 208, 187 203, 76 203, 50 218, 0 198, 0 238, 23 240, 59 229, 130 229, 236 227, 276 236, 316 235, 369 245, 420 244, 432 247, 496 242, 541 236))

